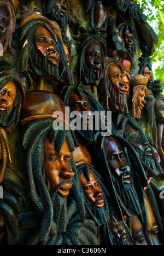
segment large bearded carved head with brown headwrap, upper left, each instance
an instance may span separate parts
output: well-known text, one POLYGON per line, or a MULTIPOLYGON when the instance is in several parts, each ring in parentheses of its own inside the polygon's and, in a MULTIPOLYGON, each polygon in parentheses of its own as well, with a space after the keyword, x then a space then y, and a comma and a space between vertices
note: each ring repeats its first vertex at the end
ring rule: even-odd
POLYGON ((21 70, 29 72, 31 69, 40 79, 72 84, 58 24, 25 10, 21 27, 21 44, 24 45, 20 57, 21 70))

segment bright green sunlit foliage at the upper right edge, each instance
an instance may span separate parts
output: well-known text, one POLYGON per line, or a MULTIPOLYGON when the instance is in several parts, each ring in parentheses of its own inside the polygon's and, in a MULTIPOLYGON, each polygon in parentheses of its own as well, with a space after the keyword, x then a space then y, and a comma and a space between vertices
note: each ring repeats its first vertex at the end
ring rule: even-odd
MULTIPOLYGON (((164 81, 164 1, 161 0, 137 0, 140 8, 147 15, 147 22, 155 30, 159 43, 155 46, 155 53, 152 56, 152 64, 155 79, 164 81)), ((163 84, 164 89, 164 84, 163 84)))

